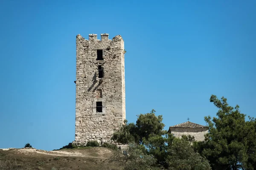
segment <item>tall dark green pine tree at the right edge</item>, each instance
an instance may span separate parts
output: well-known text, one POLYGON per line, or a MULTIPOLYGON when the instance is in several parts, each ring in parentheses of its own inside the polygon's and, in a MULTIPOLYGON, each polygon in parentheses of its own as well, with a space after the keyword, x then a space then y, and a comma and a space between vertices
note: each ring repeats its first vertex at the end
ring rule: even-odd
POLYGON ((213 169, 248 169, 256 167, 256 122, 245 121, 239 106, 231 107, 227 99, 212 95, 210 102, 219 109, 217 117, 205 117, 209 133, 205 142, 195 142, 194 149, 205 156, 213 169))

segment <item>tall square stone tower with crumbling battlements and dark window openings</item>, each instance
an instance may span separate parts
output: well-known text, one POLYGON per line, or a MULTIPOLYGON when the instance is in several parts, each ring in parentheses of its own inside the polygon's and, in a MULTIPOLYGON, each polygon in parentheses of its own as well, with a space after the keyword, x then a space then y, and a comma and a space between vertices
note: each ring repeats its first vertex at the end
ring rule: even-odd
POLYGON ((120 35, 76 36, 76 136, 73 144, 89 140, 110 142, 125 119, 125 50, 120 35))

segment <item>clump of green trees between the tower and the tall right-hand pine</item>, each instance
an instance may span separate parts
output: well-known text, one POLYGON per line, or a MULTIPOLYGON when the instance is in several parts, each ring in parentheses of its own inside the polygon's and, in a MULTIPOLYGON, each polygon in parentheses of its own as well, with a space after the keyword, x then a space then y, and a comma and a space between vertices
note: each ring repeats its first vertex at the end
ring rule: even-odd
POLYGON ((129 144, 124 153, 115 151, 112 160, 125 165, 125 170, 210 170, 209 162, 196 153, 192 136, 175 139, 163 130, 162 116, 155 110, 138 115, 136 125, 127 124, 114 133, 113 139, 129 144), (179 149, 184 147, 185 149, 179 149), (175 162, 173 162, 175 161, 175 162))

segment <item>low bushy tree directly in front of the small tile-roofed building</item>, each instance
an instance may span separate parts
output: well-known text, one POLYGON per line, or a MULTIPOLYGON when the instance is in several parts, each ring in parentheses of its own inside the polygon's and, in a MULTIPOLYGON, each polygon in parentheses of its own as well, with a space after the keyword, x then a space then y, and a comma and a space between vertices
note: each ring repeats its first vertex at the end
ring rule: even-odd
POLYGON ((209 161, 193 150, 193 140, 192 136, 179 139, 171 134, 152 134, 144 143, 145 152, 153 155, 158 165, 169 170, 211 170, 209 161))

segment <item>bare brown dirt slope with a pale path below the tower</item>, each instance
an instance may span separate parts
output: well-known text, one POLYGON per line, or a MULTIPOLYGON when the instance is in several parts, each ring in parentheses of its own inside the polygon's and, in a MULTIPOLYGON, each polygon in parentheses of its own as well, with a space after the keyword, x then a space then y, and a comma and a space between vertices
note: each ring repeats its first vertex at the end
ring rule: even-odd
POLYGON ((104 147, 63 150, 0 149, 0 170, 120 170, 104 147))

